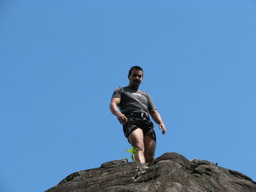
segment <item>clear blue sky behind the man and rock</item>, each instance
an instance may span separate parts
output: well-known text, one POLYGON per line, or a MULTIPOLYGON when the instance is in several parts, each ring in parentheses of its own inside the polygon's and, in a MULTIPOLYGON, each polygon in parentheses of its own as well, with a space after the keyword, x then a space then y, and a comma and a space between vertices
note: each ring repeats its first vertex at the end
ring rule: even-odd
POLYGON ((109 104, 134 65, 167 126, 157 157, 256 180, 256 1, 2 0, 0 64, 0 191, 129 158, 109 104))

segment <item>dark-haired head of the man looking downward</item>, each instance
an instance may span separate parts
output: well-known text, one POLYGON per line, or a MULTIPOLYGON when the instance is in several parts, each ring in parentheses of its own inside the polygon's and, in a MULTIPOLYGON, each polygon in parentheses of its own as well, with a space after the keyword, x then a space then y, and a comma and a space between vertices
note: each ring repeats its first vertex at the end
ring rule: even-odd
POLYGON ((143 69, 140 66, 132 66, 128 74, 129 87, 138 89, 143 80, 143 69))

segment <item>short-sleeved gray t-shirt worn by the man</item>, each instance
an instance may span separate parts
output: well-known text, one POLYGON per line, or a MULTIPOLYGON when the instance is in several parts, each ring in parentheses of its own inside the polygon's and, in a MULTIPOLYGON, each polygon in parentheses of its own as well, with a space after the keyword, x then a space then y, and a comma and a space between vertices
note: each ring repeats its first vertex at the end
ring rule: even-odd
POLYGON ((118 87, 112 98, 121 98, 119 109, 121 112, 150 112, 157 110, 151 96, 144 92, 127 87, 118 87))

